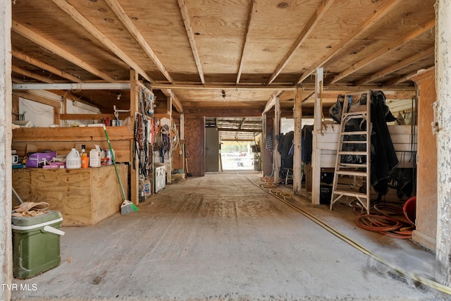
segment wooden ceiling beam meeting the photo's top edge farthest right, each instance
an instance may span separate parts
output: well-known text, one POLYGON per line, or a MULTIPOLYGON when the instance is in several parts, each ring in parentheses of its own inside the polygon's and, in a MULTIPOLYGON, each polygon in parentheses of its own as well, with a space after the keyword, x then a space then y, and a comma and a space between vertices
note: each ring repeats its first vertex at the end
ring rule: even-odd
POLYGON ((333 46, 332 49, 326 54, 325 56, 322 56, 319 61, 316 61, 313 65, 311 65, 302 75, 301 78, 297 81, 298 84, 303 82, 306 78, 309 77, 316 68, 322 67, 325 63, 330 61, 330 59, 333 58, 336 54, 338 54, 342 49, 345 48, 345 46, 351 42, 353 39, 358 37, 359 35, 362 35, 366 30, 368 30, 371 26, 373 26, 378 20, 381 20, 383 16, 385 16, 387 13, 389 13, 395 6, 400 4, 402 0, 390 0, 385 1, 384 4, 382 4, 380 7, 376 8, 373 11, 373 14, 369 16, 364 22, 362 22, 359 26, 357 26, 352 32, 347 35, 345 38, 341 39, 338 44, 333 46))

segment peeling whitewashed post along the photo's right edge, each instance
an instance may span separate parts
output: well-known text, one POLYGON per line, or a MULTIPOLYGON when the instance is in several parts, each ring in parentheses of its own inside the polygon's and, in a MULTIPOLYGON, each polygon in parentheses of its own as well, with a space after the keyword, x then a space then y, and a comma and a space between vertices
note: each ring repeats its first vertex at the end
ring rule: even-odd
POLYGON ((435 34, 435 85, 437 107, 433 133, 437 133, 437 239, 435 278, 444 285, 451 285, 451 0, 438 0, 435 34))

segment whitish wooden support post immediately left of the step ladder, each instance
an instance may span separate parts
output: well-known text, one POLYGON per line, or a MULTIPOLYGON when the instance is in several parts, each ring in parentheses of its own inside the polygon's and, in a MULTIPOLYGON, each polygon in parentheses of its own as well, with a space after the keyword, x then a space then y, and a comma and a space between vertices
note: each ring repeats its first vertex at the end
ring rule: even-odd
POLYGON ((312 141, 312 187, 311 187, 311 202, 313 204, 319 204, 319 192, 321 183, 321 149, 318 148, 318 140, 316 135, 321 135, 321 122, 322 122, 322 104, 321 93, 323 90, 323 68, 316 68, 315 77, 315 111, 314 111, 314 131, 312 141))

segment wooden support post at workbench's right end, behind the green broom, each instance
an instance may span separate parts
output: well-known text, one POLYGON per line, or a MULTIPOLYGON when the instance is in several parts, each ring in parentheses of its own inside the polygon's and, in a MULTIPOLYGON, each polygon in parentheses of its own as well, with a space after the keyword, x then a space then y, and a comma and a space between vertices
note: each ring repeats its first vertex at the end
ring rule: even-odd
MULTIPOLYGON (((130 69, 130 118, 132 119, 132 124, 135 124, 135 113, 139 111, 139 86, 138 86, 138 73, 130 69)), ((133 159, 133 149, 135 147, 135 140, 130 143, 130 201, 134 204, 138 204, 140 196, 140 179, 139 179, 139 169, 137 168, 138 162, 137 158, 133 159), (133 167, 135 166, 135 168, 133 167)))

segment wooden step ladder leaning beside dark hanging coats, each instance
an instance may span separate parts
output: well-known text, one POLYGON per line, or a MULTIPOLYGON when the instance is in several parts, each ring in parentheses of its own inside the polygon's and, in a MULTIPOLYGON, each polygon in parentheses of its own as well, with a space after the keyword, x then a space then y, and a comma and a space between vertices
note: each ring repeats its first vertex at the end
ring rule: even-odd
POLYGON ((345 99, 360 96, 362 99, 366 94, 366 104, 352 104, 349 109, 345 103, 340 123, 338 138, 337 159, 335 161, 335 173, 333 176, 332 196, 330 199, 330 210, 333 204, 342 197, 357 199, 365 211, 370 210, 371 189, 371 92, 360 94, 349 94, 345 99), (346 131, 347 125, 365 125, 364 130, 346 131), (350 159, 350 161, 347 161, 350 159), (352 183, 338 183, 339 180, 350 180, 352 183))

